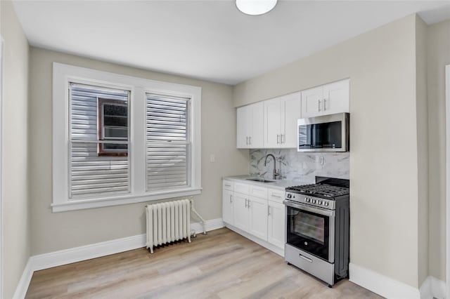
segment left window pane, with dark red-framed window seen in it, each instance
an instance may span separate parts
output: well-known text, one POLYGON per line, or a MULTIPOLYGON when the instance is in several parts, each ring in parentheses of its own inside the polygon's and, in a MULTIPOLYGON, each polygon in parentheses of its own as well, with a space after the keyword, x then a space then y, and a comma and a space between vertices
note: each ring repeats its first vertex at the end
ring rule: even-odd
POLYGON ((69 198, 129 193, 130 92, 69 84, 69 198))

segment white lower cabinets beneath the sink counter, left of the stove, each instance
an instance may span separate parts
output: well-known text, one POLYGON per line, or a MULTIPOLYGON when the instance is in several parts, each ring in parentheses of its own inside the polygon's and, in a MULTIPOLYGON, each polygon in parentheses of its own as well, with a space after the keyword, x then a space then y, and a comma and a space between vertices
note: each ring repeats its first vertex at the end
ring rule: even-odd
MULTIPOLYGON (((224 181, 222 218, 227 227, 247 233, 245 237, 283 254, 285 238, 284 191, 259 185, 224 181), (228 190, 227 190, 228 188, 228 190)), ((239 232, 239 231, 238 231, 239 232)))

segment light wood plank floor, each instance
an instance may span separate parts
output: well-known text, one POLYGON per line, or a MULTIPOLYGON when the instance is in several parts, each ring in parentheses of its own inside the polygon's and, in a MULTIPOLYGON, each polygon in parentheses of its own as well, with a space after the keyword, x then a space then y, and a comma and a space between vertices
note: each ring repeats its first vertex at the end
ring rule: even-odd
POLYGON ((333 288, 226 228, 180 242, 34 272, 26 298, 380 298, 333 288))

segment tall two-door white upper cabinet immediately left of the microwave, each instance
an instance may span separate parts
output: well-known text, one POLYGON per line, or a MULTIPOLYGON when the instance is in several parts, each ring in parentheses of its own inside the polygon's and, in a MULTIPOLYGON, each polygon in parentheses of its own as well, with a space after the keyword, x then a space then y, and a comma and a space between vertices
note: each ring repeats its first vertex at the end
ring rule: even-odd
POLYGON ((264 147, 297 147, 297 119, 301 117, 301 93, 264 101, 264 147))

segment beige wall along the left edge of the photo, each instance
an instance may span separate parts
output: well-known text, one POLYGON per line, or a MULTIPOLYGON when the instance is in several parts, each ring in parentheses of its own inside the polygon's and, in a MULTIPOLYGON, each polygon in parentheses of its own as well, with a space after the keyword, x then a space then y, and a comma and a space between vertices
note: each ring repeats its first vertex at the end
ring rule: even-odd
POLYGON ((0 1, 4 38, 2 298, 11 298, 30 256, 28 204, 28 42, 11 1, 0 1))

